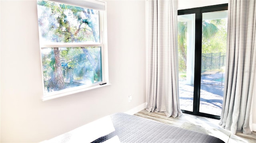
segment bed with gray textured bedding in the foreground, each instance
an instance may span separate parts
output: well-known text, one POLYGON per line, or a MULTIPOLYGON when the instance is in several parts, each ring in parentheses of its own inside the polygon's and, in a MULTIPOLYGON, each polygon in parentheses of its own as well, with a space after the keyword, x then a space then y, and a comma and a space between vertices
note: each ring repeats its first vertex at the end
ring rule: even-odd
POLYGON ((158 121, 117 113, 44 143, 224 143, 224 141, 158 121))

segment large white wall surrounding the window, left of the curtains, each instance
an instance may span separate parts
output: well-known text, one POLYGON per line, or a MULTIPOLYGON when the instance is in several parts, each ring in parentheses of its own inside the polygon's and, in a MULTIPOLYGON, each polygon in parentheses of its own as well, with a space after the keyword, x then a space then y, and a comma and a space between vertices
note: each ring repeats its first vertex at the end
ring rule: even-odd
POLYGON ((0 2, 1 143, 43 141, 146 102, 145 1, 107 1, 112 85, 45 102, 36 1, 0 2))

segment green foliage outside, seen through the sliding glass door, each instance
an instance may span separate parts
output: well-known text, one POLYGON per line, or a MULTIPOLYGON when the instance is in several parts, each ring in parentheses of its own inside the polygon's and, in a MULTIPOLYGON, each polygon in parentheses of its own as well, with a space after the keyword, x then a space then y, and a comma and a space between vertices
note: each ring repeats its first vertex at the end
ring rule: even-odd
MULTIPOLYGON (((225 40, 227 38, 226 28, 227 28, 227 19, 205 20, 202 22, 202 54, 226 53, 226 40, 225 40)), ((187 33, 187 22, 178 22, 179 72, 186 72, 186 61, 187 61, 186 33, 187 33)), ((204 60, 205 59, 202 59, 202 64, 204 64, 205 62, 204 60)), ((212 61, 212 60, 211 61, 216 64, 224 62, 223 58, 218 60, 219 61, 212 61)), ((220 68, 220 64, 217 64, 215 67, 220 68)), ((209 67, 203 67, 203 68, 209 69, 209 67)))

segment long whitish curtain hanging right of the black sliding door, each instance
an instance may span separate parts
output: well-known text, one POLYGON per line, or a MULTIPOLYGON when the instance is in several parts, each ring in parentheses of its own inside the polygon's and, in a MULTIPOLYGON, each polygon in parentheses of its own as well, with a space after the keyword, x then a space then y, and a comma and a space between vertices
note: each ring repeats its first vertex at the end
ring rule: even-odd
POLYGON ((220 125, 251 133, 250 108, 256 69, 256 2, 228 2, 228 38, 225 89, 220 125))

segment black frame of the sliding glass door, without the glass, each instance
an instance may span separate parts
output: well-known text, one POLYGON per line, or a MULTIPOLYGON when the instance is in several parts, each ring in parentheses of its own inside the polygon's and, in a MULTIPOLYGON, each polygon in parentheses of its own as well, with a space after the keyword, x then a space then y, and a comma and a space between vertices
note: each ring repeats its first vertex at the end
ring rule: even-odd
POLYGON ((199 112, 200 105, 200 84, 201 84, 201 57, 202 57, 202 13, 228 10, 228 4, 218 4, 200 8, 178 10, 178 15, 195 14, 195 63, 194 64, 194 98, 193 112, 182 110, 183 113, 202 116, 213 119, 220 119, 220 116, 199 112))

